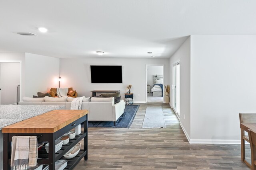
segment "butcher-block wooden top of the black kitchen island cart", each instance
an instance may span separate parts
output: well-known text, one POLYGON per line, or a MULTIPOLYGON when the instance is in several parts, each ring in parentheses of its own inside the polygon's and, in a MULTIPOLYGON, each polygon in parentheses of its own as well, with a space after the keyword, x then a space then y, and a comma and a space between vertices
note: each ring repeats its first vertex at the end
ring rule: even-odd
POLYGON ((88 113, 88 110, 53 110, 6 126, 2 133, 54 133, 88 113))

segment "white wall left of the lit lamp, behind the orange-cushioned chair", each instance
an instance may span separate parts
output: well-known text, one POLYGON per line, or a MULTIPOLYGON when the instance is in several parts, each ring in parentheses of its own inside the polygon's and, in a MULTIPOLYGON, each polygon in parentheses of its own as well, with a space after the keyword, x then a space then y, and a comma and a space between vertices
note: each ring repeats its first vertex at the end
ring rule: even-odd
POLYGON ((26 96, 37 96, 51 87, 59 87, 60 59, 26 53, 26 96))

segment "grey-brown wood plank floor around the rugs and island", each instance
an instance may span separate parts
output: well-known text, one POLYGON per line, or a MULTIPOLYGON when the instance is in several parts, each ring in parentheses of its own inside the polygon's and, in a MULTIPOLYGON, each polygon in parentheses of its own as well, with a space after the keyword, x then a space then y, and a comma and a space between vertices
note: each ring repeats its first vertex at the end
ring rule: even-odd
POLYGON ((240 145, 189 144, 168 104, 139 105, 129 129, 89 128, 88 160, 76 170, 250 170, 240 145), (141 128, 147 106, 162 106, 166 128, 141 128))

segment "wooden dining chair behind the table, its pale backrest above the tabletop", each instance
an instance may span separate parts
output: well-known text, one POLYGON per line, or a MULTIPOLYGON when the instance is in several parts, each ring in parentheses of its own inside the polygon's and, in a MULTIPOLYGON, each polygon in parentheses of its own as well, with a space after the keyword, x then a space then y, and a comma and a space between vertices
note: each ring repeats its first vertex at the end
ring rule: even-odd
MULTIPOLYGON (((240 123, 256 123, 256 113, 239 113, 240 123)), ((244 141, 250 143, 249 137, 244 135, 244 130, 241 129, 241 155, 242 161, 245 160, 244 141)))

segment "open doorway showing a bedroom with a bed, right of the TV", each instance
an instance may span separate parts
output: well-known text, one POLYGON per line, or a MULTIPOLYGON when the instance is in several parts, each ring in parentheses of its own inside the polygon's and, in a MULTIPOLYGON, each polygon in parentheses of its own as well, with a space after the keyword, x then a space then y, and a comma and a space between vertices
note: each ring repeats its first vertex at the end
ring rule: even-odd
POLYGON ((164 102, 164 65, 146 64, 146 103, 164 102))

